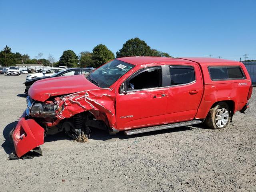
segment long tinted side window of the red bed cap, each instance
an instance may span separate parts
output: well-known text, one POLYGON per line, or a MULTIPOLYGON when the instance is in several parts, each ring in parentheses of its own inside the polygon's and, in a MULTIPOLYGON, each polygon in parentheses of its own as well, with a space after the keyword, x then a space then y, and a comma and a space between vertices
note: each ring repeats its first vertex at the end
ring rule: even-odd
POLYGON ((212 80, 228 80, 234 78, 244 78, 240 67, 208 67, 212 80))

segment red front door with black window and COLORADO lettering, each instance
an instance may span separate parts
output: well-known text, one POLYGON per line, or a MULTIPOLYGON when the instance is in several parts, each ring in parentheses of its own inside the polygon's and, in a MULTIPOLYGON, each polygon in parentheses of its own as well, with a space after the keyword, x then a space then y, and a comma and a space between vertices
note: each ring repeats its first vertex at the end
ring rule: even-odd
POLYGON ((117 129, 164 124, 167 91, 162 87, 161 66, 139 70, 126 80, 127 93, 117 93, 117 129))

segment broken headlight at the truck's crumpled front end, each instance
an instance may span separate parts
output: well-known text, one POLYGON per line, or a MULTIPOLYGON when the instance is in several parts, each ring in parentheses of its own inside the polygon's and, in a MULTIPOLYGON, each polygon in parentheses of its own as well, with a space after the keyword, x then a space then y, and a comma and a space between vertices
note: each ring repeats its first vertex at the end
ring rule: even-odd
POLYGON ((62 110, 61 108, 58 108, 57 105, 53 104, 35 103, 31 108, 30 115, 32 117, 40 118, 54 117, 58 112, 62 110))

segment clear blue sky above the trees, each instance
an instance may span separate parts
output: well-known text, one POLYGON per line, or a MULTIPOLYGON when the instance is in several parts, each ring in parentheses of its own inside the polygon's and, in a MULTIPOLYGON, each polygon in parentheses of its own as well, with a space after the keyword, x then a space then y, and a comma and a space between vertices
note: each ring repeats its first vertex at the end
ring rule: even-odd
POLYGON ((176 57, 256 59, 256 0, 0 0, 0 50, 56 61, 130 38, 176 57))

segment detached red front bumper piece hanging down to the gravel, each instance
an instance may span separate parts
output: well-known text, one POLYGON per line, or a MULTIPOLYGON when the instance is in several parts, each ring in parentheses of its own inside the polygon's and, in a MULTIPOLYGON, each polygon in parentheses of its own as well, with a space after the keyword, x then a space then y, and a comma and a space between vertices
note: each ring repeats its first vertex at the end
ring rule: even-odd
POLYGON ((26 111, 24 111, 11 138, 16 155, 20 158, 35 147, 44 144, 44 128, 35 120, 26 119, 26 111))

